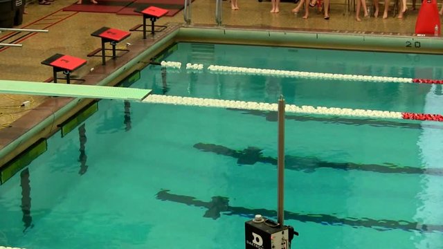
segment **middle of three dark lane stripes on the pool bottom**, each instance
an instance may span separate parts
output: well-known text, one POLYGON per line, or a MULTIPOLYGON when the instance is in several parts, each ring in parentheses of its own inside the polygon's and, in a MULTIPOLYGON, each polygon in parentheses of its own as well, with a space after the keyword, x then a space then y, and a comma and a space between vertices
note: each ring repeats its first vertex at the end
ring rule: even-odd
MULTIPOLYGON (((217 155, 237 158, 240 165, 254 165, 255 163, 268 163, 277 165, 277 158, 263 156, 262 149, 257 147, 247 147, 244 150, 234 150, 222 145, 205 144, 199 142, 194 145, 196 149, 204 152, 213 152, 217 155)), ((315 172, 316 169, 329 168, 341 170, 361 170, 366 172, 377 172, 385 174, 428 174, 433 176, 443 176, 443 169, 439 168, 419 168, 409 166, 398 166, 393 164, 359 164, 359 163, 331 163, 315 157, 285 156, 284 168, 298 170, 305 173, 315 172)))

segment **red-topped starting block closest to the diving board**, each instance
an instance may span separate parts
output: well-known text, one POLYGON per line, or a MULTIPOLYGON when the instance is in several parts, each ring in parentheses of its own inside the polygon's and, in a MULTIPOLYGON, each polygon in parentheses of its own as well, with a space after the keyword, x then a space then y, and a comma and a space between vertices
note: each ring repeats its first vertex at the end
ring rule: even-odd
POLYGON ((67 84, 71 83, 71 72, 77 70, 86 64, 86 59, 80 59, 71 55, 55 54, 45 59, 42 64, 53 67, 53 80, 57 83, 57 79, 66 80, 67 84), (57 72, 63 72, 66 78, 58 78, 57 72))

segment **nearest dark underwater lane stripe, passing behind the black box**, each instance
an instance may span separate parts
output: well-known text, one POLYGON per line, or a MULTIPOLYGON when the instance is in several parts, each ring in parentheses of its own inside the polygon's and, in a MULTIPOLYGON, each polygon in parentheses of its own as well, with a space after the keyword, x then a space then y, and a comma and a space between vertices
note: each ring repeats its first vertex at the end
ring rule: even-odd
MULTIPOLYGON (((253 218, 255 214, 262 214, 267 218, 275 219, 277 212, 273 210, 251 209, 244 207, 233 207, 229 205, 229 199, 223 196, 213 196, 211 201, 199 201, 192 196, 183 196, 178 194, 170 194, 169 190, 162 190, 156 194, 156 199, 161 201, 173 201, 198 208, 206 208, 204 217, 218 219, 224 215, 238 215, 253 218)), ((443 225, 428 225, 410 221, 393 221, 388 219, 369 219, 369 218, 340 218, 332 214, 301 214, 296 212, 284 212, 285 219, 291 219, 301 222, 314 222, 322 225, 347 225, 352 228, 372 228, 379 231, 387 230, 405 230, 409 232, 443 232, 443 225)))

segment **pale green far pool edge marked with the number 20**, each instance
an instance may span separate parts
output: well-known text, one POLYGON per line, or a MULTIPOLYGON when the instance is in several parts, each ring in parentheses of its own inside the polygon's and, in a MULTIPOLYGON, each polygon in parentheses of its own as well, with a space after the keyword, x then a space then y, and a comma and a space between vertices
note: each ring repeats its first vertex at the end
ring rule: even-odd
MULTIPOLYGON (((381 35, 373 33, 335 33, 320 31, 231 27, 182 27, 176 39, 180 42, 210 42, 298 48, 327 48, 397 53, 442 55, 443 39, 411 35, 381 35)), ((345 58, 343 58, 345 59, 345 58)))

